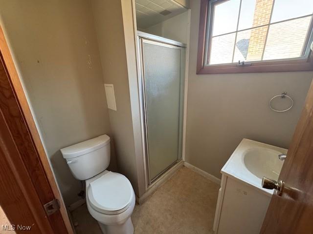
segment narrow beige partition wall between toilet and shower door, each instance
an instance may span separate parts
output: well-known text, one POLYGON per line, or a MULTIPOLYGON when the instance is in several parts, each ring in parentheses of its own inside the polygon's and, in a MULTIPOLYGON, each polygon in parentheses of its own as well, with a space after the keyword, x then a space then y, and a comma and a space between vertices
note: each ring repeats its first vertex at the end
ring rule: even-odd
POLYGON ((129 44, 132 43, 130 40, 134 40, 131 3, 131 0, 92 0, 92 8, 103 78, 105 83, 114 85, 117 111, 109 110, 109 116, 118 168, 132 182, 135 194, 140 196, 144 192, 144 178, 142 174, 138 174, 143 172, 143 163, 136 160, 140 157, 142 160, 143 157, 142 152, 141 155, 138 152, 142 151, 141 138, 138 139, 140 129, 138 132, 138 128, 135 128, 138 127, 136 121, 139 121, 139 109, 136 109, 138 106, 135 106, 134 102, 137 102, 137 105, 139 102, 137 86, 134 83, 134 44, 129 44), (133 57, 126 53, 126 47, 128 53, 133 53, 133 57), (130 63, 134 66, 128 67, 130 63))

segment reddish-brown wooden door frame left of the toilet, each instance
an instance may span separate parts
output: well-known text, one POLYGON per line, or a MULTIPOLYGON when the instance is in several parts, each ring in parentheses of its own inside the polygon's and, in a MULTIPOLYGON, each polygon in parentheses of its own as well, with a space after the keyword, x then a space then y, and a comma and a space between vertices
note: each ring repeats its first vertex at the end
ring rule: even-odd
POLYGON ((0 206, 16 233, 25 232, 18 225, 31 233, 73 233, 1 28, 0 166, 0 206), (54 199, 61 209, 49 215, 44 205, 54 199))

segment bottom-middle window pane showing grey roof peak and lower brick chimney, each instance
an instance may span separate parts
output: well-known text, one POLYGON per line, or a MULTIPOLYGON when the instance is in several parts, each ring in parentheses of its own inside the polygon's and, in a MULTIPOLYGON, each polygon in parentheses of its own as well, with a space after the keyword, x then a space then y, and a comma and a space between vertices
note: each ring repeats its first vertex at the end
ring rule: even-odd
POLYGON ((268 26, 238 32, 233 62, 261 60, 268 26))

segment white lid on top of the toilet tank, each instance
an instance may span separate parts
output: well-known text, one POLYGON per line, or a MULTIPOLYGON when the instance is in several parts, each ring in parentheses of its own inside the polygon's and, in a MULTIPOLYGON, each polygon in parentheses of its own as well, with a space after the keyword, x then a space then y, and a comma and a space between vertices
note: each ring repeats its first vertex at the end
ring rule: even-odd
POLYGON ((85 155, 91 151, 99 149, 110 143, 110 137, 108 135, 101 135, 75 145, 68 146, 61 149, 61 153, 64 158, 72 158, 81 155, 85 155))

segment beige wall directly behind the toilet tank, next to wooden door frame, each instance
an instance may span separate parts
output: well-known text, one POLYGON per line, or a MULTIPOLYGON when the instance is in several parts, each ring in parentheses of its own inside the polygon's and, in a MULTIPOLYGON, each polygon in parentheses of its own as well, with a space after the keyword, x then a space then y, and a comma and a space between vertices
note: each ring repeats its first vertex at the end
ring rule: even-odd
POLYGON ((111 135, 91 4, 0 0, 0 16, 68 205, 79 199, 81 183, 71 175, 60 149, 111 135))

